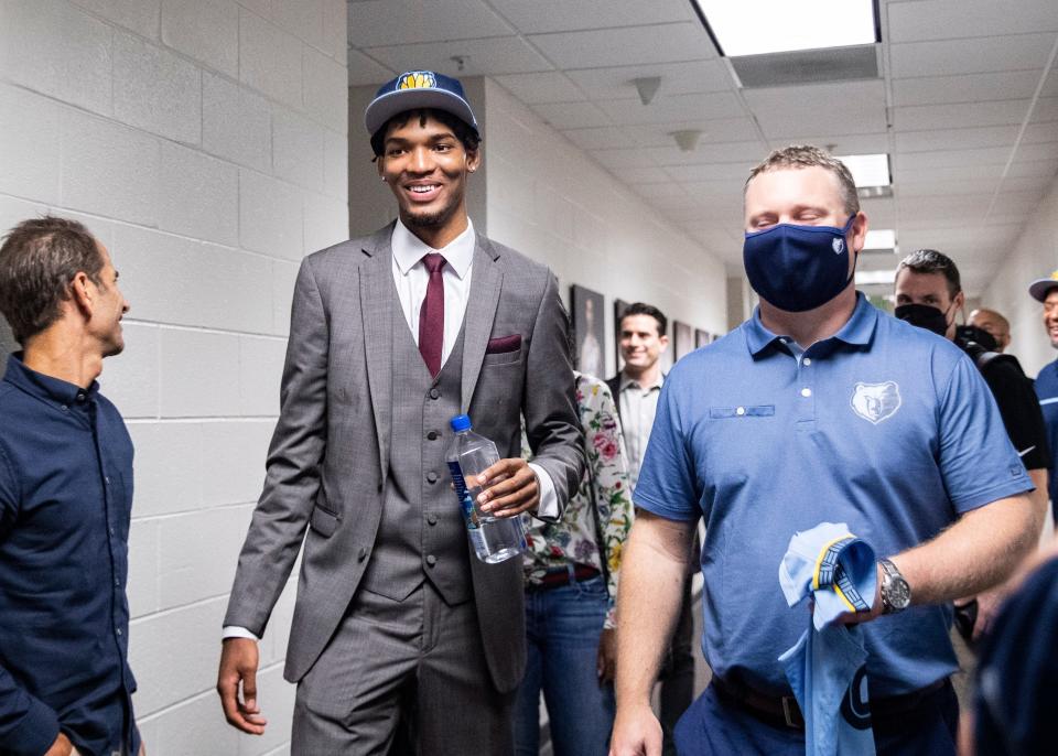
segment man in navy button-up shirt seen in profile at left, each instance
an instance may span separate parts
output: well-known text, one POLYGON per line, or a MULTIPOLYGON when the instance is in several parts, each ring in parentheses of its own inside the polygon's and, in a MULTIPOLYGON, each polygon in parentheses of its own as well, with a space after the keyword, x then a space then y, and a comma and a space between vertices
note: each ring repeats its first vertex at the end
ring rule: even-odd
POLYGON ((78 223, 0 247, 0 312, 24 352, 0 381, 0 753, 136 754, 128 666, 132 442, 98 390, 129 305, 78 223))

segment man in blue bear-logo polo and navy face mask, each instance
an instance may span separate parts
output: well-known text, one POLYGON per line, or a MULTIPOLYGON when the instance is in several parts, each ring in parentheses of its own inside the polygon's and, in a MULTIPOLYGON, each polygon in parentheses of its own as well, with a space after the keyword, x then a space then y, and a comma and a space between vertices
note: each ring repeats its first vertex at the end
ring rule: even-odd
POLYGON ((745 229, 760 306, 669 374, 634 495, 612 753, 658 753, 650 684, 701 516, 713 683, 680 721, 680 754, 803 753, 778 657, 806 620, 778 566, 822 521, 886 558, 871 611, 846 618, 865 623, 878 752, 954 754, 951 601, 1003 580, 1035 541, 1032 484, 973 363, 856 293, 867 219, 842 163, 774 152, 746 183, 745 229))

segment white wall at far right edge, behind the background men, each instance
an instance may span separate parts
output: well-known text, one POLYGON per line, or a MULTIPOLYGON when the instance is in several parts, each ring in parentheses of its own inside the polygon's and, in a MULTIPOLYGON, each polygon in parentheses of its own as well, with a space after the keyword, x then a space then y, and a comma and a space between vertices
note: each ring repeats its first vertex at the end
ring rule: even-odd
POLYGON ((981 295, 981 306, 998 310, 1011 321, 1011 347, 1029 376, 1058 357, 1044 333, 1043 305, 1028 295, 1028 284, 1058 269, 1058 179, 1029 216, 1014 247, 998 252, 1003 262, 981 295))

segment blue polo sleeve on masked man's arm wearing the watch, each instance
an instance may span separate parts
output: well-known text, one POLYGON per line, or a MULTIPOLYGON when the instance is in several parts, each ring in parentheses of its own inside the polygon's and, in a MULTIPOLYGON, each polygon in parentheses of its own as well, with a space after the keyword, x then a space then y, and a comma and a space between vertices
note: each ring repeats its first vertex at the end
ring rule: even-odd
POLYGON ((939 406, 939 464, 959 514, 1033 489, 987 385, 962 356, 939 406))

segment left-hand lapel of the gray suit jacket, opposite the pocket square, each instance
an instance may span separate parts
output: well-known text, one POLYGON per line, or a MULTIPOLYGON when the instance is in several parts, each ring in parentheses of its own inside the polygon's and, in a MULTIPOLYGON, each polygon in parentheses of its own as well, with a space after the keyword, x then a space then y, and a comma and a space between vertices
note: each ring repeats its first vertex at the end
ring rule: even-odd
POLYGON ((366 246, 368 259, 360 266, 360 315, 364 323, 364 348, 367 353, 367 384, 378 431, 378 458, 381 479, 389 469, 389 445, 392 425, 393 396, 393 292, 392 237, 390 224, 366 246))

